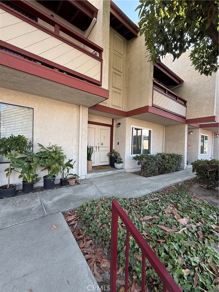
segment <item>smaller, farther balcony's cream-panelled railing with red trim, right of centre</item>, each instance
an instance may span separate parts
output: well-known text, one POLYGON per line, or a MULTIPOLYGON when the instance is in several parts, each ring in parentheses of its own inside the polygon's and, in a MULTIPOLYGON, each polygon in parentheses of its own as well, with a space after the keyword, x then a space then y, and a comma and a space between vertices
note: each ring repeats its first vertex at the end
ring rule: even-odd
POLYGON ((187 100, 170 89, 153 81, 152 107, 169 112, 178 117, 186 118, 187 100))

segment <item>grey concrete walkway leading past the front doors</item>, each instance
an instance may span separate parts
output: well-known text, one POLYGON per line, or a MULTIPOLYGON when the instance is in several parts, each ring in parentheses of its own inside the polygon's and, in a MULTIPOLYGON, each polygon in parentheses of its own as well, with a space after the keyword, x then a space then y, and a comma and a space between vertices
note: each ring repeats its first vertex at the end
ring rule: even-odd
POLYGON ((1 199, 0 291, 97 291, 62 213, 93 198, 137 198, 194 177, 187 170, 151 178, 119 172, 74 187, 1 199), (51 230, 53 224, 58 230, 51 230))

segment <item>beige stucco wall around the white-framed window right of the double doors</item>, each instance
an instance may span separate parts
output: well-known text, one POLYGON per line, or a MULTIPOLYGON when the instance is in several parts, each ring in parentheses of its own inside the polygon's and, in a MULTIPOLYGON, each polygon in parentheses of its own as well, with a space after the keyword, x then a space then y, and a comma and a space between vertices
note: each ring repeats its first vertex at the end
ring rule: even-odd
POLYGON ((124 159, 126 170, 139 168, 137 162, 131 156, 131 126, 152 129, 152 154, 162 152, 163 147, 163 126, 149 123, 133 118, 121 118, 114 120, 114 149, 118 151, 124 159), (116 124, 121 123, 117 128, 116 124), (119 142, 119 145, 117 143, 119 142))

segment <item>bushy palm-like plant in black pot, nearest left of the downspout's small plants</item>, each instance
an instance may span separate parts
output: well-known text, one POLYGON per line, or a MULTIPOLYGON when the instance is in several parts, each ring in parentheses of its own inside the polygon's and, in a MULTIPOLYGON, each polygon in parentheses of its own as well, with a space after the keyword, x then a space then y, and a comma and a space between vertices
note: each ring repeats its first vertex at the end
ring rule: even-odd
POLYGON ((55 177, 61 172, 61 165, 66 159, 63 153, 62 146, 51 145, 48 147, 38 143, 39 165, 42 167, 41 171, 47 170, 48 174, 43 177, 44 190, 51 190, 55 187, 55 177))

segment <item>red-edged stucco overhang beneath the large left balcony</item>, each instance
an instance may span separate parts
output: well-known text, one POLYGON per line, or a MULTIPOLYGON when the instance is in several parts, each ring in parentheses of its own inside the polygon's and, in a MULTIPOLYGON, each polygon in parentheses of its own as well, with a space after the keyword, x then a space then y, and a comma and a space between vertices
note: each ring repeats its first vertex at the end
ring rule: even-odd
POLYGON ((1 87, 91 107, 109 91, 43 65, 0 52, 1 87))

